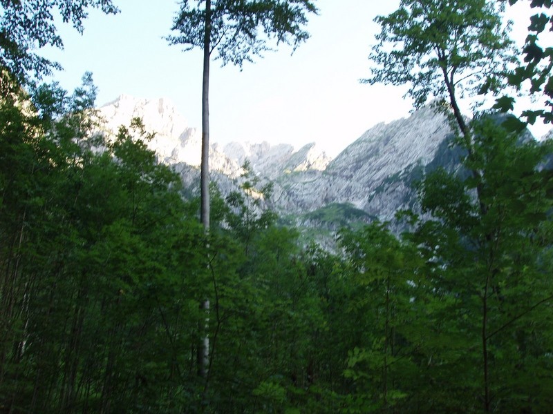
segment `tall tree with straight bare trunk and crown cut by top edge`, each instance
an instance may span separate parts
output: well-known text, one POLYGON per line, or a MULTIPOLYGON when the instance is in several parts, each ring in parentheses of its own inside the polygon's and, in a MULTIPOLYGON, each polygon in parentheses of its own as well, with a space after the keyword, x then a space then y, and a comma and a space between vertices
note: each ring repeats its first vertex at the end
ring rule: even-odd
MULTIPOLYGON (((178 34, 167 37, 171 44, 203 49, 202 87, 202 155, 200 169, 200 219, 209 230, 209 63, 212 53, 226 63, 242 66, 269 50, 268 41, 292 44, 294 48, 308 39, 303 30, 308 12, 317 8, 310 0, 200 0, 198 6, 190 6, 183 0, 171 30, 178 34), (204 3, 204 8, 200 5, 204 3), (261 31, 261 33, 260 33, 261 31)), ((209 301, 204 302, 209 309, 209 301)), ((200 375, 205 376, 207 366, 206 343, 198 353, 200 375)))

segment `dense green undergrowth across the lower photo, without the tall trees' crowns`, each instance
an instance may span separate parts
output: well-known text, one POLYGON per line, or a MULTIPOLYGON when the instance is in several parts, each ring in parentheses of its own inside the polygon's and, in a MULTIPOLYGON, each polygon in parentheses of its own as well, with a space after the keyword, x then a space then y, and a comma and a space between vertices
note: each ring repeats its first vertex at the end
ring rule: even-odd
POLYGON ((84 81, 0 108, 1 411, 547 412, 551 143, 482 116, 463 161, 482 182, 435 170, 431 219, 344 230, 332 254, 275 224, 247 164, 206 235, 140 121, 91 135, 84 81))

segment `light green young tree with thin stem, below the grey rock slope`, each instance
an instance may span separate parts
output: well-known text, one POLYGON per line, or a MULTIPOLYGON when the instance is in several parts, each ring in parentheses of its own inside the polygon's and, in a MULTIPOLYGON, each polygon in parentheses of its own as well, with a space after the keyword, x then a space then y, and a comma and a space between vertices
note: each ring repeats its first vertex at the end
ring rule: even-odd
POLYGON ((361 328, 344 370, 353 381, 353 397, 346 399, 350 412, 405 411, 418 393, 411 391, 417 382, 413 355, 420 346, 413 331, 419 328, 415 310, 424 301, 419 282, 424 264, 414 245, 400 242, 378 222, 342 230, 340 244, 355 286, 344 313, 361 328))

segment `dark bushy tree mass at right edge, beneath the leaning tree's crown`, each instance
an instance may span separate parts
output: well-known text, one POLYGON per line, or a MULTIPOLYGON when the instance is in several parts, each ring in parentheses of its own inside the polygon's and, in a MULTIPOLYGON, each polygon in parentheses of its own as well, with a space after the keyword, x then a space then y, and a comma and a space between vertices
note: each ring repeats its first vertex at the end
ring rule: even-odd
POLYGON ((442 302, 443 315, 458 315, 441 335, 462 337, 464 345, 457 355, 442 351, 442 366, 456 366, 465 378, 458 385, 473 402, 467 411, 477 401, 485 412, 547 411, 551 399, 543 387, 551 377, 542 370, 551 366, 553 292, 545 269, 553 193, 544 163, 552 143, 500 124, 482 115, 471 126, 474 156, 462 164, 480 177, 444 170, 424 177, 420 206, 431 219, 418 223, 414 242, 431 266, 429 294, 442 302))

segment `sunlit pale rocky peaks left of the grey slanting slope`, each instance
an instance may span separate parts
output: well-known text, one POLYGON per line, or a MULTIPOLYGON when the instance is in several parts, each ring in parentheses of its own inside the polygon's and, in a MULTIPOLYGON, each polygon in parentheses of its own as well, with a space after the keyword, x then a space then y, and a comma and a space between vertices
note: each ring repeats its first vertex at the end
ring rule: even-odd
MULTIPOLYGON (((106 121, 104 132, 108 135, 115 134, 120 126, 129 126, 131 119, 140 117, 147 132, 156 133, 148 147, 158 153, 161 162, 200 166, 201 133, 187 126, 187 121, 167 99, 138 99, 121 95, 99 108, 99 112, 106 121)), ((331 161, 315 144, 308 144, 299 151, 294 151, 294 147, 288 144, 271 146, 268 142, 232 142, 225 146, 215 143, 209 148, 211 170, 231 178, 240 175, 246 159, 256 172, 261 172, 268 179, 276 179, 283 169, 324 170, 331 161)))

